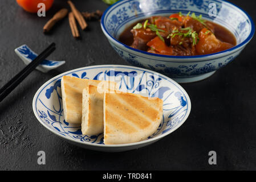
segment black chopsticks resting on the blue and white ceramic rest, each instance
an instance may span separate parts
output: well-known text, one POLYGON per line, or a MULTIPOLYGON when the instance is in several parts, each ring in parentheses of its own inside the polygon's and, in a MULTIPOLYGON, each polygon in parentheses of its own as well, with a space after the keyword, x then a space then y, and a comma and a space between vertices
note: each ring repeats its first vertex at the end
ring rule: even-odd
POLYGON ((7 84, 0 89, 0 102, 9 95, 47 56, 55 50, 55 43, 51 43, 40 55, 38 55, 30 64, 15 75, 7 84))

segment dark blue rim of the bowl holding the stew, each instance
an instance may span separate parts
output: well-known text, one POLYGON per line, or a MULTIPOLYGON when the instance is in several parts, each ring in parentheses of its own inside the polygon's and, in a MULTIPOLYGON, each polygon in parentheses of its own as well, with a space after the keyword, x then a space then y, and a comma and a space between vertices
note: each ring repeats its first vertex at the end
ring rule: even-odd
POLYGON ((101 29, 103 30, 104 34, 109 36, 109 38, 119 44, 119 46, 121 47, 124 47, 124 48, 127 48, 127 49, 130 49, 131 51, 135 51, 135 52, 138 52, 138 53, 142 53, 142 54, 145 54, 145 55, 149 55, 149 56, 156 56, 156 57, 164 57, 164 58, 171 58, 171 59, 196 59, 196 58, 210 58, 210 57, 214 57, 214 56, 222 56, 226 53, 232 53, 233 51, 235 51, 236 49, 239 49, 243 46, 245 46, 247 43, 250 42, 250 40, 253 38, 254 36, 254 32, 255 32, 255 25, 254 25, 254 22, 253 22, 253 19, 251 18, 251 16, 243 9, 241 9, 240 7, 238 7, 237 5, 234 5, 234 3, 231 3, 229 1, 226 1, 226 0, 215 0, 215 1, 220 1, 220 2, 226 2, 234 7, 237 7, 237 9, 241 10, 243 13, 245 13, 245 15, 247 16, 247 18, 250 20, 250 24, 251 24, 251 32, 249 34, 249 36, 247 36, 247 38, 245 40, 243 40, 243 42, 237 44, 236 46, 230 48, 230 49, 226 49, 225 51, 220 51, 220 52, 216 52, 216 53, 211 53, 211 54, 207 54, 207 55, 197 55, 197 56, 169 56, 169 55, 160 55, 160 54, 156 54, 156 53, 151 53, 151 52, 147 52, 147 51, 141 51, 139 49, 135 49, 135 48, 132 48, 130 46, 127 46, 125 45, 124 43, 121 43, 119 40, 117 40, 116 38, 114 38, 111 34, 109 34, 109 32, 107 31, 107 28, 105 27, 105 24, 104 24, 104 19, 105 19, 105 16, 108 14, 109 10, 112 9, 113 6, 119 4, 119 3, 122 3, 123 1, 135 1, 135 0, 120 0, 120 1, 117 1, 116 3, 113 3, 113 5, 109 6, 103 13, 103 15, 101 16, 101 20, 100 20, 100 25, 101 25, 101 29))

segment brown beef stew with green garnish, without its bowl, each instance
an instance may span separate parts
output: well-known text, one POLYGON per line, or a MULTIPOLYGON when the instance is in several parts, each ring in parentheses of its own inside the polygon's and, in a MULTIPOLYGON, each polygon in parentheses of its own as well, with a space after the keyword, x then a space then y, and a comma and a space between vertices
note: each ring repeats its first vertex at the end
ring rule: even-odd
POLYGON ((141 51, 170 56, 206 55, 237 44, 225 27, 190 12, 140 20, 125 29, 119 41, 141 51))

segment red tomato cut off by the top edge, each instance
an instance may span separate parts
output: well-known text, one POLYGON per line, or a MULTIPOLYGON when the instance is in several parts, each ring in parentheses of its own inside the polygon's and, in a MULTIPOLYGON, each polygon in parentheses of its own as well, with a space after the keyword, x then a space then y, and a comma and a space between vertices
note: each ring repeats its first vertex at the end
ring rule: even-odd
POLYGON ((40 7, 37 7, 39 3, 44 3, 46 5, 46 11, 50 9, 54 0, 16 0, 18 5, 24 10, 30 13, 36 13, 40 7))

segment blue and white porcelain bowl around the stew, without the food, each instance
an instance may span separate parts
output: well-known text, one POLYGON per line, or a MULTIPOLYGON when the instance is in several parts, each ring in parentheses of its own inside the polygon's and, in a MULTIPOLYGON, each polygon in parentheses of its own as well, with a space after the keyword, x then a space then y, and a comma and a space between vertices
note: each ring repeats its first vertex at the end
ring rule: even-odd
POLYGON ((250 16, 239 7, 217 0, 123 0, 110 6, 101 18, 101 28, 111 46, 123 59, 137 67, 168 75, 177 82, 199 81, 213 75, 233 61, 253 38, 255 27, 250 16), (213 8, 216 7, 216 14, 213 8), (202 14, 221 24, 237 39, 237 46, 209 55, 166 56, 131 48, 117 39, 129 25, 152 15, 170 15, 181 11, 202 14))

